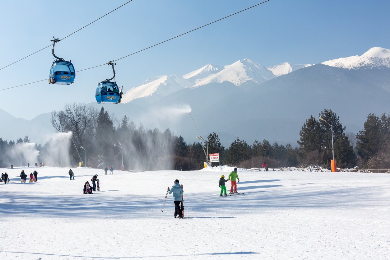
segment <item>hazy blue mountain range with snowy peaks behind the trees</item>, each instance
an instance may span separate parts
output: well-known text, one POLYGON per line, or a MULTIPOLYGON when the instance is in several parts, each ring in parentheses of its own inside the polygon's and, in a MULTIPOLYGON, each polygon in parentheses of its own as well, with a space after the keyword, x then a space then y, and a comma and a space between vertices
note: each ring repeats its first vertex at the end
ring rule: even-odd
MULTIPOLYGON (((184 76, 152 77, 126 92, 121 104, 89 105, 103 106, 119 120, 127 115, 146 128, 169 128, 188 143, 197 141, 191 111, 199 134, 216 132, 225 147, 237 136, 249 144, 267 139, 296 146, 303 123, 326 108, 353 133, 363 128, 369 113, 390 113, 389 52, 371 48, 362 56, 310 66, 286 62, 270 69, 248 59, 224 67, 207 64, 184 76)), ((0 119, 7 122, 3 139, 28 135, 43 142, 54 133, 50 113, 28 121, 0 110, 0 119)))

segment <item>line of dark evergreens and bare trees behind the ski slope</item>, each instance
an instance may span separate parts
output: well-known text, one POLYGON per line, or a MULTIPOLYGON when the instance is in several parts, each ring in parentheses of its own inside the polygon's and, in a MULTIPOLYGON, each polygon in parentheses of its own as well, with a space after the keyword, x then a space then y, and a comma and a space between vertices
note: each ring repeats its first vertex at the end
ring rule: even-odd
MULTIPOLYGON (((96 110, 85 104, 66 104, 64 110, 51 112, 51 124, 57 132, 72 132, 70 147, 71 163, 78 164, 86 157, 87 166, 120 169, 123 164, 130 170, 198 170, 206 161, 200 142, 186 143, 181 135, 169 129, 144 129, 136 126, 126 116, 120 122, 102 107, 96 110), (115 122, 115 123, 114 123, 115 122), (77 150, 76 151, 76 147, 77 150), (82 148, 82 150, 78 148, 82 148), (85 154, 83 154, 85 150, 85 154)), ((316 166, 330 168, 333 147, 338 168, 384 169, 390 167, 390 116, 383 113, 367 115, 363 129, 356 135, 345 133, 339 117, 325 109, 318 117, 312 115, 303 124, 298 147, 290 143, 281 145, 277 141, 255 140, 251 145, 239 137, 229 147, 223 147, 218 134, 210 133, 209 153, 219 153, 220 163, 240 168, 316 166), (321 119, 320 119, 321 117, 321 119)), ((260 138, 259 138, 260 140, 260 138)), ((0 165, 11 164, 7 155, 17 143, 30 142, 28 136, 14 141, 0 138, 0 165)), ((35 145, 44 161, 50 153, 48 143, 35 145)), ((206 149, 206 147, 205 147, 206 149)))

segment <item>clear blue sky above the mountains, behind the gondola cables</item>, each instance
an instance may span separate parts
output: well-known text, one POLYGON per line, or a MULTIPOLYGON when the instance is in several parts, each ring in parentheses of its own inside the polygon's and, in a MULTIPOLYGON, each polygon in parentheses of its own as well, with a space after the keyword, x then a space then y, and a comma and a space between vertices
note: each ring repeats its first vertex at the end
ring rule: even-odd
MULTIPOLYGON (((1 1, 0 67, 62 39, 126 0, 1 1)), ((261 0, 133 0, 56 44, 58 57, 77 70, 126 56, 227 16, 261 0)), ((183 75, 211 63, 249 58, 266 67, 291 62, 314 64, 390 49, 388 0, 271 0, 206 28, 117 62, 115 80, 124 92, 155 75, 183 75)), ((2 87, 48 78, 51 48, 0 70, 2 87)), ((64 103, 96 102, 108 65, 76 74, 72 85, 47 81, 0 91, 0 108, 32 119, 64 103)))

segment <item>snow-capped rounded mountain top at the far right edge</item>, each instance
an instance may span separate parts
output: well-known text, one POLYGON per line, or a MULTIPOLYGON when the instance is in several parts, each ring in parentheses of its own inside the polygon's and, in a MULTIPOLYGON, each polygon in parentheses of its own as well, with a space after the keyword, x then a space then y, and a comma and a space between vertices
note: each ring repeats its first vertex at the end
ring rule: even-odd
POLYGON ((374 47, 363 53, 362 56, 351 56, 328 60, 322 64, 344 68, 356 69, 360 67, 390 67, 390 50, 380 47, 374 47))

